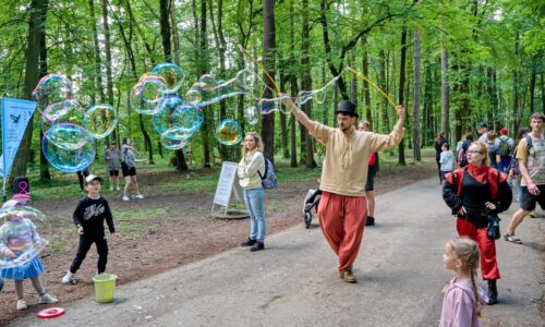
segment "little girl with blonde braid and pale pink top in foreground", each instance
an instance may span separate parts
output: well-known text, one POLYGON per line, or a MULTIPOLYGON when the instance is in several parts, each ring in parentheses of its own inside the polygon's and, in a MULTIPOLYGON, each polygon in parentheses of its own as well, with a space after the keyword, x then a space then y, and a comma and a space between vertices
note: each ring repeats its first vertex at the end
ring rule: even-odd
POLYGON ((445 245, 443 262, 452 270, 452 278, 445 290, 439 327, 479 327, 483 305, 488 301, 475 282, 479 268, 479 246, 470 239, 453 239, 445 245))

